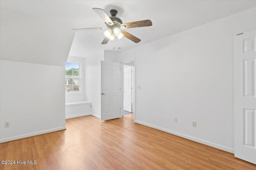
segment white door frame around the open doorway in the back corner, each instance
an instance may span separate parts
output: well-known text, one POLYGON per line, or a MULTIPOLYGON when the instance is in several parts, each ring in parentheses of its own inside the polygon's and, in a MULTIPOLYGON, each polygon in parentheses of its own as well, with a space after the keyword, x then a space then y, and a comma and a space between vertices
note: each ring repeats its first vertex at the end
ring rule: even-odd
MULTIPOLYGON (((120 63, 120 68, 121 68, 121 72, 120 72, 120 83, 121 83, 121 96, 120 96, 120 105, 121 105, 121 112, 120 116, 122 117, 124 115, 123 110, 124 110, 124 64, 134 61, 134 70, 133 70, 133 75, 134 75, 134 101, 133 101, 133 106, 134 109, 132 110, 132 112, 134 113, 134 123, 136 122, 136 58, 135 59, 131 59, 128 61, 123 61, 122 63, 120 63)), ((133 107, 132 106, 132 107, 133 107)))

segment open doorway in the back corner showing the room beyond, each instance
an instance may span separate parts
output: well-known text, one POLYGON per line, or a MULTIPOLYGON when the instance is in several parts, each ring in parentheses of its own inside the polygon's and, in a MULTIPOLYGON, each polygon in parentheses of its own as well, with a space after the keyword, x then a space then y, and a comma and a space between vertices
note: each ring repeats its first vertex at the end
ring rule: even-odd
POLYGON ((123 63, 123 115, 134 113, 134 61, 123 63))

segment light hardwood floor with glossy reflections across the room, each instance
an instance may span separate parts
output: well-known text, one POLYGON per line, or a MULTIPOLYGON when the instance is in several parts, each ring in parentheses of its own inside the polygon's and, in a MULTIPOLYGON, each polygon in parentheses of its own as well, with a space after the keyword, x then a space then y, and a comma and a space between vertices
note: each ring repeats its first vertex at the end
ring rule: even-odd
POLYGON ((66 130, 0 144, 1 170, 256 170, 234 154, 134 123, 134 114, 66 120, 66 130), (27 163, 27 162, 26 162, 27 163))

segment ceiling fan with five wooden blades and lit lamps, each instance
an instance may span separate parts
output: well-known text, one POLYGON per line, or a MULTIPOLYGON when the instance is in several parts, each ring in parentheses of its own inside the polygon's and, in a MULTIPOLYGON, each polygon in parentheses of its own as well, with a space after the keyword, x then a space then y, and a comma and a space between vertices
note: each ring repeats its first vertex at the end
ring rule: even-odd
POLYGON ((96 12, 105 21, 107 28, 104 28, 104 27, 81 28, 81 29, 73 29, 73 31, 90 31, 90 30, 96 30, 96 29, 107 29, 104 32, 105 38, 101 44, 106 44, 108 43, 109 40, 114 40, 115 36, 118 37, 118 39, 124 36, 130 39, 131 41, 133 41, 134 43, 138 43, 140 42, 140 39, 138 39, 134 35, 124 30, 120 30, 120 28, 126 29, 126 28, 134 28, 134 27, 147 27, 152 25, 152 22, 150 20, 123 23, 120 18, 116 17, 116 14, 117 14, 116 10, 110 10, 111 17, 109 17, 106 14, 106 12, 100 8, 92 8, 92 10, 94 10, 94 12, 96 12))

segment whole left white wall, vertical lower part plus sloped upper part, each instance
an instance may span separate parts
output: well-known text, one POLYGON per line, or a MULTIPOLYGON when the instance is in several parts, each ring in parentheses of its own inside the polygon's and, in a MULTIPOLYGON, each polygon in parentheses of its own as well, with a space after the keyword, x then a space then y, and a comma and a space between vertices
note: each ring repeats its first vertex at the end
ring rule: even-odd
POLYGON ((8 8, 0 20, 0 142, 65 129, 72 28, 8 8))

